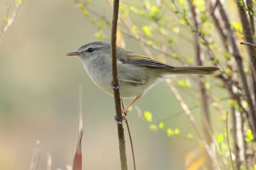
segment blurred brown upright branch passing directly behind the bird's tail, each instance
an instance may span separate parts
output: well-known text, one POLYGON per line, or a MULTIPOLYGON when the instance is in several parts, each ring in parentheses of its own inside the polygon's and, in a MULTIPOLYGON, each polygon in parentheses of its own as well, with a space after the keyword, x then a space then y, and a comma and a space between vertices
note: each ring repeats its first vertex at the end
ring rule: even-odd
MULTIPOLYGON (((199 9, 197 9, 197 7, 195 7, 195 4, 193 4, 192 0, 189 0, 189 7, 190 7, 190 11, 192 12, 192 19, 193 19, 194 25, 195 25, 195 31, 194 31, 195 53, 196 53, 195 58, 197 61, 197 65, 203 66, 203 61, 202 61, 203 54, 202 54, 201 46, 199 43, 199 40, 200 40, 199 34, 202 34, 199 32, 200 31, 200 23, 201 23, 199 14, 198 14, 199 9)), ((203 82, 203 77, 199 75, 198 79, 199 79, 201 102, 202 102, 202 107, 203 107, 202 122, 203 122, 204 135, 206 137, 207 144, 211 145, 212 129, 211 129, 210 111, 209 111, 209 107, 208 107, 208 97, 207 97, 207 93, 206 93, 205 84, 203 82)), ((206 166, 208 167, 207 169, 213 168, 213 163, 212 163, 210 157, 207 158, 206 166)))

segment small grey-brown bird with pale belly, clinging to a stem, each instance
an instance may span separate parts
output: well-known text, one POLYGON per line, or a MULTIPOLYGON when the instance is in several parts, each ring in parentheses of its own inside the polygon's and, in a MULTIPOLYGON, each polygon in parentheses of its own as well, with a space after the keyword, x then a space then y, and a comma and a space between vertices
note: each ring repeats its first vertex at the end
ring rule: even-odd
MULTIPOLYGON (((77 56, 92 82, 113 96, 111 45, 109 42, 90 42, 77 51, 67 53, 77 56)), ((154 85, 175 74, 214 74, 219 71, 217 66, 170 66, 146 55, 133 53, 131 50, 116 47, 118 81, 121 98, 134 98, 122 110, 138 101, 154 85)))

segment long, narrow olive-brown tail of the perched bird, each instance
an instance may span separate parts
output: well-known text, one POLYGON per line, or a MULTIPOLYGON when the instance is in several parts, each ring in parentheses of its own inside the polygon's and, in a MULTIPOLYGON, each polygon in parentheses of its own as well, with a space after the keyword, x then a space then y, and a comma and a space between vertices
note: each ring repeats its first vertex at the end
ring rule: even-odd
POLYGON ((173 74, 214 74, 219 70, 217 66, 176 66, 173 74))

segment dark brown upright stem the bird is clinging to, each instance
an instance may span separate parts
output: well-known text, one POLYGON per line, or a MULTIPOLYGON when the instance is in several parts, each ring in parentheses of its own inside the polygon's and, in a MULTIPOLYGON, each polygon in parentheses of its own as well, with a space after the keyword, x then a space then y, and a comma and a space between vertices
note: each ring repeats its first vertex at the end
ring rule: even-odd
MULTIPOLYGON (((121 99, 119 93, 119 83, 118 83, 118 72, 116 63, 116 31, 118 22, 118 10, 119 10, 119 0, 113 1, 113 19, 111 28, 111 54, 112 54, 112 85, 114 100, 116 106, 116 117, 122 117, 121 114, 121 99)), ((121 169, 127 170, 127 155, 125 150, 125 139, 124 139, 124 128, 122 124, 117 124, 118 128, 118 141, 119 141, 119 155, 121 161, 121 169)))

